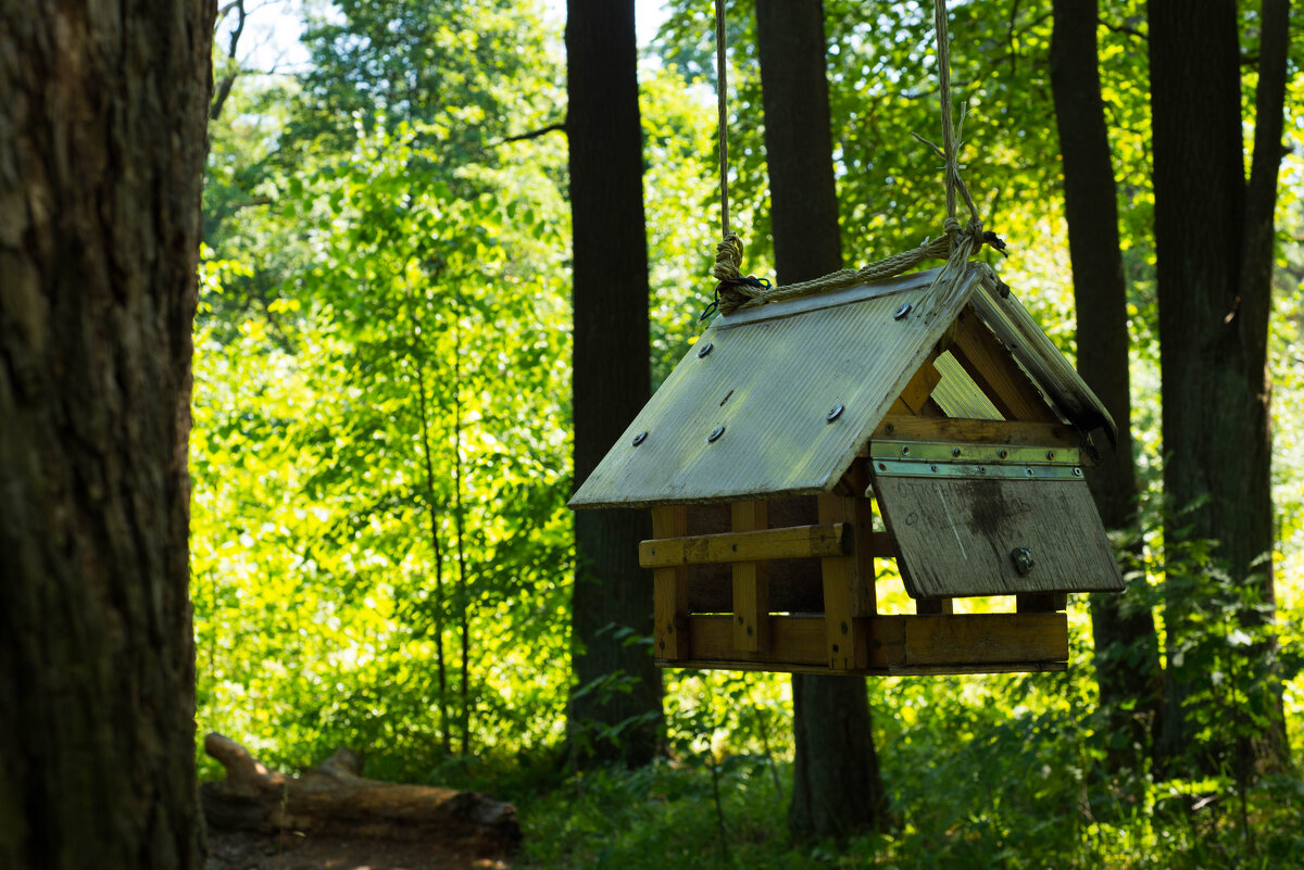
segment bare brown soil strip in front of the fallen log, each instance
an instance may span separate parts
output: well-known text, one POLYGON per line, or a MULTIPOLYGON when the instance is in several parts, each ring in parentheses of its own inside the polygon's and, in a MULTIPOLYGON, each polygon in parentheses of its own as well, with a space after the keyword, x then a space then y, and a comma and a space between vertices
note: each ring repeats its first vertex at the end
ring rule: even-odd
POLYGON ((507 870, 434 843, 209 831, 206 870, 507 870))

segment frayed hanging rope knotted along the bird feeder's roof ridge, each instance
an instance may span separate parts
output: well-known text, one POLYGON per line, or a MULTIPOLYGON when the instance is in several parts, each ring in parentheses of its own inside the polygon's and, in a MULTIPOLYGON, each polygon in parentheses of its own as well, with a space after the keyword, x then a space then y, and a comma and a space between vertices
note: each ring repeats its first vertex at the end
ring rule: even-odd
MULTIPOLYGON (((1005 253, 1005 244, 992 232, 985 232, 982 219, 978 216, 978 207, 974 204, 969 186, 960 176, 958 152, 962 145, 951 117, 951 44, 947 30, 947 3, 934 0, 932 25, 938 40, 938 79, 941 99, 941 147, 925 139, 917 133, 911 133, 915 139, 927 145, 943 160, 943 180, 947 191, 947 219, 941 225, 941 236, 926 238, 923 244, 900 254, 893 254, 880 260, 875 260, 859 270, 841 270, 811 281, 799 284, 786 284, 782 287, 769 287, 768 281, 742 276, 742 240, 729 229, 729 158, 728 158, 728 125, 726 108, 726 78, 725 78, 725 23, 724 0, 716 0, 716 89, 720 115, 720 199, 722 219, 722 241, 716 245, 716 264, 712 270, 716 280, 716 300, 703 313, 702 319, 708 318, 717 307, 721 314, 729 314, 741 307, 762 305, 764 302, 778 302, 782 300, 808 296, 824 290, 844 287, 855 287, 867 281, 893 277, 908 272, 927 259, 947 258, 945 266, 939 270, 932 284, 925 293, 923 300, 917 306, 923 316, 932 316, 932 303, 939 288, 949 287, 960 277, 969 262, 969 258, 988 244, 1001 254, 1005 253), (958 198, 964 197, 969 207, 969 223, 961 228, 956 219, 958 198)), ((960 117, 960 128, 964 128, 964 115, 960 117)))

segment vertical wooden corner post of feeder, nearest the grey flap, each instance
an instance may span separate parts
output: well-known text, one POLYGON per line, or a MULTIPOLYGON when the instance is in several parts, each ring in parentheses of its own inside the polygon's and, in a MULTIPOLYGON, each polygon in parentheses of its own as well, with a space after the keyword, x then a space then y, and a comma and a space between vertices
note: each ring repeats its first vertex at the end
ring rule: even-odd
POLYGON ((857 637, 855 617, 874 616, 874 512, 867 499, 819 496, 820 522, 852 527, 852 552, 820 560, 824 577, 824 633, 833 671, 866 667, 867 646, 857 637), (865 660, 862 660, 865 659, 865 660))

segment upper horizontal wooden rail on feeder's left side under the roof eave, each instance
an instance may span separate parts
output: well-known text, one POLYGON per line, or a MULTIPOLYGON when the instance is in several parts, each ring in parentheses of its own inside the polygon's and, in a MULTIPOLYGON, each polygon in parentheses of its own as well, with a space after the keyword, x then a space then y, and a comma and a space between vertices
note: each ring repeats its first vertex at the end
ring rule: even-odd
POLYGON ((643 540, 639 543, 639 564, 665 568, 841 555, 846 547, 845 534, 841 524, 822 524, 643 540))

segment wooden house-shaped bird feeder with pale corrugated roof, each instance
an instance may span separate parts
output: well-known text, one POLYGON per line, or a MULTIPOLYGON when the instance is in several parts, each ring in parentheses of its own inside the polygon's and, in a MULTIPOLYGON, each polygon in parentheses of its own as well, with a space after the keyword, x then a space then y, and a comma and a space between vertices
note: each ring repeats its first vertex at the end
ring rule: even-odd
POLYGON ((1123 589, 1082 479, 1114 421, 988 267, 932 277, 716 318, 571 499, 652 508, 659 664, 1061 671, 1067 593, 1123 589))

